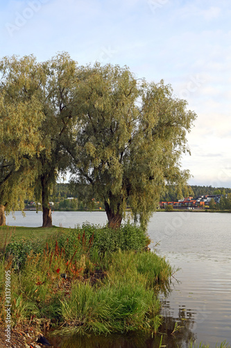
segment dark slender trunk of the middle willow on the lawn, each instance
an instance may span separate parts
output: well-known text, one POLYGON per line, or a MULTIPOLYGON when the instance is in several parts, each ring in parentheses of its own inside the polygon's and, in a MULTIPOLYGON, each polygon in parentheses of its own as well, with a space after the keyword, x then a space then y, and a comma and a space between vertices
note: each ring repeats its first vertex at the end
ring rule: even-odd
POLYGON ((42 227, 52 227, 51 206, 49 204, 49 186, 46 175, 41 177, 42 184, 42 227))

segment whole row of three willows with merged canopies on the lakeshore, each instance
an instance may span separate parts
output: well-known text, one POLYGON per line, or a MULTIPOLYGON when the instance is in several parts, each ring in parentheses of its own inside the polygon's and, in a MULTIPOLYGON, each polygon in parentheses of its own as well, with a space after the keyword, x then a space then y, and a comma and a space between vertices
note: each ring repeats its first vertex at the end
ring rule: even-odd
POLYGON ((115 229, 128 200, 145 228, 166 185, 187 191, 180 161, 196 114, 164 81, 126 66, 80 66, 65 52, 41 63, 4 57, 0 79, 0 225, 35 197, 42 226, 52 226, 51 193, 67 171, 79 199, 101 200, 115 229))

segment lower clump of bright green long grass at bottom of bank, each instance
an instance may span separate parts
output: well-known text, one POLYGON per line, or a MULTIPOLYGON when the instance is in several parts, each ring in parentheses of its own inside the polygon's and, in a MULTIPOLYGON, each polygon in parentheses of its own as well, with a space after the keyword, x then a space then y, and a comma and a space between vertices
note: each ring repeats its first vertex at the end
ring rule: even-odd
MULTIPOLYGON (((117 272, 118 276, 118 272, 117 272)), ((62 301, 61 315, 71 327, 65 333, 125 333, 139 329, 157 330, 160 303, 145 281, 110 278, 101 288, 76 284, 69 301, 62 301)))

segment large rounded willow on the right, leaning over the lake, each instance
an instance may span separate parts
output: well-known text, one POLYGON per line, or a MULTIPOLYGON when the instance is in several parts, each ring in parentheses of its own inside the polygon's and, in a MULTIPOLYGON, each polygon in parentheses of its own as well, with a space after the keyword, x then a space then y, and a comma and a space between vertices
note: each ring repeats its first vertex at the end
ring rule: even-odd
POLYGON ((137 81, 126 67, 82 68, 77 90, 73 179, 89 200, 103 200, 110 227, 121 225, 129 200, 145 228, 166 184, 187 182, 180 159, 196 114, 164 81, 137 81))

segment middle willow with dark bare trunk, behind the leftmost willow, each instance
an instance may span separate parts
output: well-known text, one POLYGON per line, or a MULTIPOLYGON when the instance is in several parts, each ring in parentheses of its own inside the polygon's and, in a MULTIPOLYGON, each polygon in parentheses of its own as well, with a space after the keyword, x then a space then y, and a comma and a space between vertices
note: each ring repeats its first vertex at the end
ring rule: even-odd
MULTIPOLYGON (((29 186, 33 187, 37 200, 42 202, 42 226, 50 227, 50 193, 58 172, 65 171, 67 166, 67 155, 62 143, 65 142, 71 127, 76 62, 71 61, 65 53, 43 63, 38 63, 34 56, 12 56, 3 58, 1 71, 2 88, 6 90, 8 104, 18 107, 33 102, 35 106, 28 112, 22 132, 33 132, 38 127, 40 151, 34 148, 33 158, 30 157, 33 183, 29 186), (40 120, 32 126, 28 117, 31 112, 37 115, 38 111, 40 120)), ((15 113, 10 113, 9 117, 12 122, 17 123, 15 113)), ((20 167, 22 171, 23 166, 20 167)))

